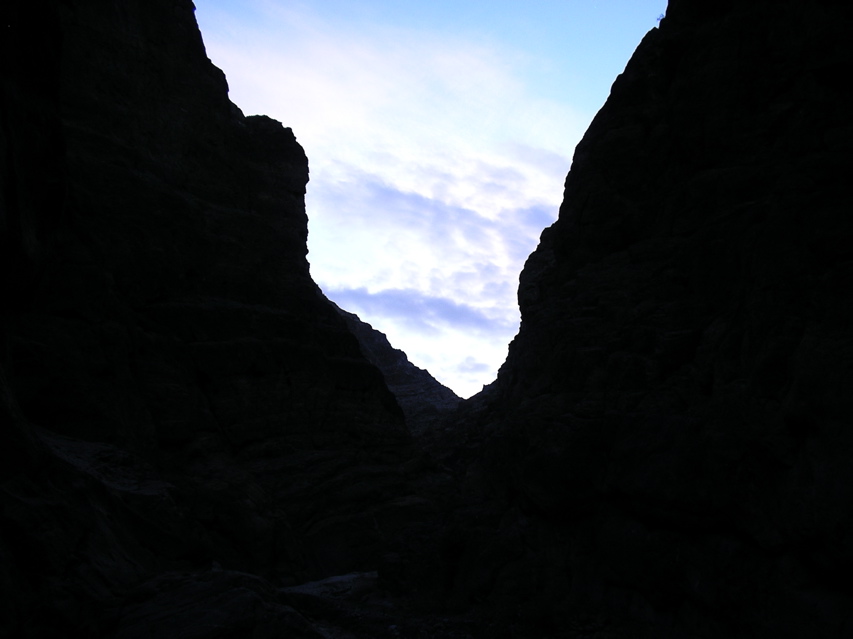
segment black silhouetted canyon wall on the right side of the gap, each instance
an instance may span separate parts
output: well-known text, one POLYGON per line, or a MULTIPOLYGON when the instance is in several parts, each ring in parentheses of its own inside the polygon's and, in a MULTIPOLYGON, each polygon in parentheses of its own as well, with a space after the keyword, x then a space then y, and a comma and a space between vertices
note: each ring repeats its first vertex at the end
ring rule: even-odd
POLYGON ((671 2, 613 84, 478 422, 456 596, 504 629, 853 633, 851 26, 671 2))

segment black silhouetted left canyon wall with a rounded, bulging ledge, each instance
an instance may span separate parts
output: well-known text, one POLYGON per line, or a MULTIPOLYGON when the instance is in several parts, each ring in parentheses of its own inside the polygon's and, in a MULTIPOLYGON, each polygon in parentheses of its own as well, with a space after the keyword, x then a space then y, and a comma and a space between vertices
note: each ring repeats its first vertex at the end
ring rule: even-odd
POLYGON ((189 0, 3 12, 0 635, 319 636, 270 584, 375 569, 434 509, 309 276, 302 148, 189 0))

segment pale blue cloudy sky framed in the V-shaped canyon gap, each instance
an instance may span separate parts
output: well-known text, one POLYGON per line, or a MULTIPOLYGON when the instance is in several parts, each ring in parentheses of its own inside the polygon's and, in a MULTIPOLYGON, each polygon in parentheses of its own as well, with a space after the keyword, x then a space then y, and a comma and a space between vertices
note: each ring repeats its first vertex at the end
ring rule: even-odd
POLYGON ((311 274, 461 397, 518 332, 574 148, 666 0, 195 0, 246 115, 309 160, 311 274))

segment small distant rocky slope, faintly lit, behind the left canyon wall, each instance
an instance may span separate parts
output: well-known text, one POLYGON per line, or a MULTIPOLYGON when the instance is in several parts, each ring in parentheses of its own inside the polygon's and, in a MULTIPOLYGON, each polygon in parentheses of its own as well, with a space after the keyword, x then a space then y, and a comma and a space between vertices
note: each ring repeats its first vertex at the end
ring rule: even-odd
POLYGON ((406 354, 391 346, 388 337, 363 322, 355 313, 338 312, 358 339, 368 362, 382 371, 388 389, 397 398, 406 425, 413 435, 423 435, 451 414, 461 401, 452 390, 438 382, 429 371, 418 368, 406 354))

